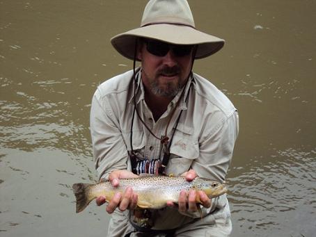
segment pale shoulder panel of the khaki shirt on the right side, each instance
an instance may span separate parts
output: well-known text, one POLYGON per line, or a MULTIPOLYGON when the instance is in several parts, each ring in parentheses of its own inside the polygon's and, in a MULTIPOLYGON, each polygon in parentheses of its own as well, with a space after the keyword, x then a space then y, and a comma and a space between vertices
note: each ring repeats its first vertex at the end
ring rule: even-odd
POLYGON ((206 104, 212 104, 212 107, 216 111, 221 111, 226 117, 232 115, 236 111, 235 106, 230 99, 221 92, 214 84, 205 79, 203 76, 194 74, 195 89, 198 99, 205 101, 206 104))

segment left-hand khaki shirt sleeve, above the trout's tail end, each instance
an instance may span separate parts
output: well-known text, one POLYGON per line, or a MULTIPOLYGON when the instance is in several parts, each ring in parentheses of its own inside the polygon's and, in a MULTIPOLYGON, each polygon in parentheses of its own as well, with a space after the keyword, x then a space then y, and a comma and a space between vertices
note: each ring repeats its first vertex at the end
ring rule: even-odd
POLYGON ((99 180, 107 179, 113 170, 127 169, 127 147, 110 101, 97 90, 90 111, 90 131, 95 168, 99 180))

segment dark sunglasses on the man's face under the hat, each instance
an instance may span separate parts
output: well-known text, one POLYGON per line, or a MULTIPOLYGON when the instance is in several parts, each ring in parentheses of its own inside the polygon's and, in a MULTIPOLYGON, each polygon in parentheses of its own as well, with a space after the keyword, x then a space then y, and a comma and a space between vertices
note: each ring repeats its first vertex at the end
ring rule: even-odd
POLYGON ((168 44, 158 40, 145 40, 146 49, 150 54, 155 56, 163 57, 168 54, 168 51, 172 51, 173 55, 176 57, 188 56, 193 45, 178 45, 178 44, 168 44))

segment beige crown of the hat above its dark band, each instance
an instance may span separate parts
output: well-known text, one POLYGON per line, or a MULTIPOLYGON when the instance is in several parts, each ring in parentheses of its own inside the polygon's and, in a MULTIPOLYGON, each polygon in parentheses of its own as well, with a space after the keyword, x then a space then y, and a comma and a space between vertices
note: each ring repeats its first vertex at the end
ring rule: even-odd
POLYGON ((195 28, 186 0, 150 0, 145 6, 141 26, 150 24, 180 24, 195 28))

